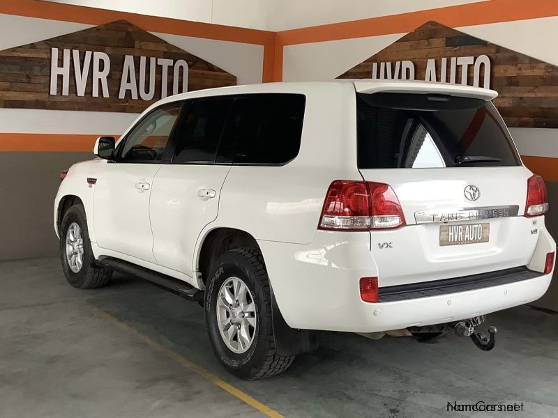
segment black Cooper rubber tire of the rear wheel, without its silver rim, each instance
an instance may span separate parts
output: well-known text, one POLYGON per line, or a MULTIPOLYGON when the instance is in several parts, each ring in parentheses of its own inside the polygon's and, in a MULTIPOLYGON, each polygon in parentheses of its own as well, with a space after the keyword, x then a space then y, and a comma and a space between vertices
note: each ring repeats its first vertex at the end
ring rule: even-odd
POLYGON ((267 378, 287 370, 294 361, 294 356, 284 357, 276 353, 269 279, 264 259, 257 249, 232 249, 218 258, 207 283, 205 308, 206 327, 213 351, 234 376, 247 380, 267 378), (238 277, 248 286, 256 308, 254 340, 250 348, 241 354, 227 347, 217 323, 218 293, 230 277, 238 277))

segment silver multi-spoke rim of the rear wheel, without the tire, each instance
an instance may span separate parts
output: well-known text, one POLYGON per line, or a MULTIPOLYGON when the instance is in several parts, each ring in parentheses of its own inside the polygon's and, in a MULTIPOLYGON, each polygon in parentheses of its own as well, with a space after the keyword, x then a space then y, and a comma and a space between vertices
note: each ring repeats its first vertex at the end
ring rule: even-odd
POLYGON ((217 323, 223 341, 234 353, 245 353, 256 334, 256 306, 246 283, 229 277, 221 286, 217 300, 217 323))

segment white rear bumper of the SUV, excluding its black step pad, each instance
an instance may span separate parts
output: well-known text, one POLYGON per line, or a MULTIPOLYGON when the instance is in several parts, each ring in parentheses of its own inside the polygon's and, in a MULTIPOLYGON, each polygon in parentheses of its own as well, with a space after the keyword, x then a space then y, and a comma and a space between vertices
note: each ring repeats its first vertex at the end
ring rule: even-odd
POLYGON ((309 245, 269 241, 259 241, 259 245, 289 327, 346 332, 447 323, 532 302, 550 285, 552 273, 543 275, 543 260, 547 252, 555 251, 554 240, 541 229, 528 269, 519 268, 523 271, 515 279, 492 277, 488 287, 453 288, 450 293, 435 291, 368 303, 361 300, 359 279, 378 276, 369 233, 318 231, 309 245))

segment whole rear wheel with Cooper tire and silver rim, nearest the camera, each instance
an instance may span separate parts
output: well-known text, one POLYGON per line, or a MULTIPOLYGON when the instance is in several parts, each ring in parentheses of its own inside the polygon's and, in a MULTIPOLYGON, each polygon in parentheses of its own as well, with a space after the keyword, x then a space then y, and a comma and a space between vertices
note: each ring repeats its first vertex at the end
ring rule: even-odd
POLYGON ((276 352, 269 279, 257 249, 223 254, 213 265, 205 295, 209 339, 227 371, 259 379, 289 368, 294 356, 276 352))

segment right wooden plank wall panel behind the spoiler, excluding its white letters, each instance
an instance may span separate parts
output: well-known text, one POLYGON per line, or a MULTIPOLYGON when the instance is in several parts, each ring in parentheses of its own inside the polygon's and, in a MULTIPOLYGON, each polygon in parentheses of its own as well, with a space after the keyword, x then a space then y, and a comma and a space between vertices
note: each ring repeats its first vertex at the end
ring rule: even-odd
MULTIPOLYGON (((425 79, 428 59, 436 60, 440 77, 441 59, 453 56, 480 56, 490 58, 490 88, 499 93, 494 101, 510 127, 558 128, 558 67, 514 52, 486 40, 448 28, 437 22, 428 22, 408 33, 389 47, 344 72, 338 78, 370 78, 372 64, 412 61, 415 79, 425 79)), ((469 66, 469 84, 473 68, 469 66)), ((460 80, 458 68, 457 79, 460 80)), ((481 75, 481 85, 483 84, 481 75)))

